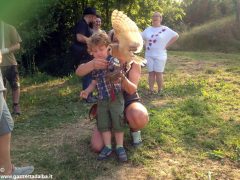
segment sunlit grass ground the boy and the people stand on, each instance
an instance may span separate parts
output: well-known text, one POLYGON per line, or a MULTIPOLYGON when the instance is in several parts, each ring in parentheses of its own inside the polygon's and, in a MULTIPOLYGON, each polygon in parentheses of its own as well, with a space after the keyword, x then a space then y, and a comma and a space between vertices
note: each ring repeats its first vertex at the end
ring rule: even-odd
POLYGON ((125 164, 115 156, 99 162, 90 151, 94 122, 75 75, 39 73, 21 85, 23 114, 14 116, 12 158, 16 165, 34 165, 34 174, 59 180, 240 179, 240 54, 169 52, 160 95, 148 95, 143 68, 139 93, 150 122, 141 148, 131 146, 126 131, 125 164))

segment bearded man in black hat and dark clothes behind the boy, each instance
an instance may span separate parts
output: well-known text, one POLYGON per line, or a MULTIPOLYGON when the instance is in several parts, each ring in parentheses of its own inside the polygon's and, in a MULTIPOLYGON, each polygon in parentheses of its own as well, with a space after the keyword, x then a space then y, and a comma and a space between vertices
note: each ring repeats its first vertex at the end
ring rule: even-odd
MULTIPOLYGON (((77 23, 74 30, 74 44, 72 46, 74 65, 75 68, 79 64, 86 63, 93 59, 93 57, 87 51, 87 39, 92 35, 92 30, 90 24, 93 23, 96 19, 96 9, 92 7, 87 7, 84 9, 83 18, 77 23)), ((82 88, 83 90, 88 87, 92 81, 91 73, 87 74, 82 79, 82 88)), ((88 103, 95 102, 96 99, 93 98, 90 94, 86 100, 88 103)))

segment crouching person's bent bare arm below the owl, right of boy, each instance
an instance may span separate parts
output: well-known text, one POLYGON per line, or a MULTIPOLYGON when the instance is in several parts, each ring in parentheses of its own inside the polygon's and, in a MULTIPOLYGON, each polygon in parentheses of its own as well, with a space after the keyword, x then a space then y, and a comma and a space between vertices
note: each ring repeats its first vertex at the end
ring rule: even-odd
POLYGON ((128 94, 133 94, 137 91, 138 83, 141 76, 141 65, 133 63, 129 71, 128 78, 122 78, 122 89, 128 94))

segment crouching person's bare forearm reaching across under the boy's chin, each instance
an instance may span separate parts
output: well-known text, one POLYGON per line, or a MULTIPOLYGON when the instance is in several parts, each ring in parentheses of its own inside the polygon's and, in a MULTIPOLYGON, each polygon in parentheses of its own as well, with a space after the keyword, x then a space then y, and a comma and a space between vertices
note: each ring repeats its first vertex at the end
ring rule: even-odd
POLYGON ((96 59, 80 64, 76 69, 76 75, 78 76, 85 76, 86 74, 90 73, 94 69, 106 69, 108 62, 105 59, 96 59))

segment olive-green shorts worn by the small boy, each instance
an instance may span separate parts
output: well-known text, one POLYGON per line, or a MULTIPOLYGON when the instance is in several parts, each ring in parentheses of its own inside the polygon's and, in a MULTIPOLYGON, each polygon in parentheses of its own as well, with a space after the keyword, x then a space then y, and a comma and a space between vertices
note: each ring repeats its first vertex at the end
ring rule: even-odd
POLYGON ((116 94, 114 101, 111 101, 111 99, 98 101, 97 127, 100 132, 124 131, 124 99, 122 93, 116 94))

